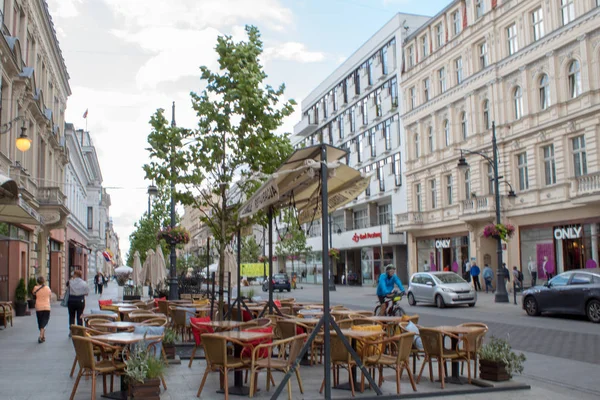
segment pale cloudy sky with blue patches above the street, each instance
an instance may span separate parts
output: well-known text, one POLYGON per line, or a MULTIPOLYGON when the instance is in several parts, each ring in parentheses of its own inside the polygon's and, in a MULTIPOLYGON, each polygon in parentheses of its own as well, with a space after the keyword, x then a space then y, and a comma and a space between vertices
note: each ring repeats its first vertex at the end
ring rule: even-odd
POLYGON ((66 120, 90 132, 111 196, 123 257, 147 210, 142 165, 148 121, 176 102, 178 126, 196 127, 190 92, 216 66, 219 35, 262 34, 268 83, 300 103, 397 12, 433 16, 450 0, 47 0, 70 75, 66 120), (89 110, 87 122, 84 112, 89 110))

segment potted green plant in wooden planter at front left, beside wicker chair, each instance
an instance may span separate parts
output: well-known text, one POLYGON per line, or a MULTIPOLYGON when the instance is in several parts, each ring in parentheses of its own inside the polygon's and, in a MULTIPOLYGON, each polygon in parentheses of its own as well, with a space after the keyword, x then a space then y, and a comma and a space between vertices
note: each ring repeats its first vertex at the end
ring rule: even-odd
POLYGON ((165 369, 162 357, 157 357, 145 341, 137 343, 125 361, 131 397, 160 400, 160 376, 165 369))

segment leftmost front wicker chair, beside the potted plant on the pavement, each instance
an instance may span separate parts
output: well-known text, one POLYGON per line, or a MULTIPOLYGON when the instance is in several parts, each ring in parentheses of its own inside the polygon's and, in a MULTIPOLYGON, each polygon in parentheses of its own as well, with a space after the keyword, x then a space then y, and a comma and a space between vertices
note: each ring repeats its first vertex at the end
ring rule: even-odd
POLYGON ((110 375, 110 390, 113 390, 113 375, 125 370, 125 363, 117 361, 117 357, 103 358, 97 361, 94 358, 94 346, 102 347, 105 351, 111 350, 115 354, 121 352, 120 347, 111 346, 103 342, 99 342, 89 337, 73 336, 73 346, 75 347, 75 354, 77 362, 79 363, 79 373, 71 392, 70 400, 73 400, 79 381, 82 376, 92 377, 92 400, 96 398, 96 377, 102 375, 103 392, 106 394, 106 375, 110 375))

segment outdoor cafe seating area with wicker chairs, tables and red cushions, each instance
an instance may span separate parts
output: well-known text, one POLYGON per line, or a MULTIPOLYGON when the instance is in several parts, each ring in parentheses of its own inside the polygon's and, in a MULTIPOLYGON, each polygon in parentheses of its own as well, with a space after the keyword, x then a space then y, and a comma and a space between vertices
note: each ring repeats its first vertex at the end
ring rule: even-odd
MULTIPOLYGON (((319 321, 323 305, 294 299, 274 300, 271 306, 265 301, 240 303, 239 309, 225 303, 221 318, 217 302, 211 304, 200 297, 177 301, 101 300, 97 309, 84 315, 83 327, 71 327, 75 349, 71 376, 76 375, 79 365, 73 395, 78 385, 89 384, 89 379, 81 381, 81 377, 91 377, 95 387, 96 377, 102 376, 103 395, 121 398, 118 396, 128 391, 124 375, 131 346, 142 342, 168 364, 162 340, 169 329, 175 333, 177 348, 193 349, 189 361, 179 368, 189 368, 192 379, 197 376, 197 395, 201 398, 270 397, 290 371, 291 378, 281 397, 291 399, 293 393, 305 392, 308 397, 322 396, 325 335, 319 321), (310 348, 294 368, 311 335, 314 340, 310 348), (307 386, 303 382, 306 376, 313 381, 318 376, 320 381, 307 386), (115 378, 121 381, 120 387, 115 378), (220 388, 219 394, 215 393, 215 385, 220 388)), ((390 395, 431 391, 434 387, 447 390, 454 384, 471 383, 477 376, 477 350, 488 331, 484 324, 426 327, 419 324, 418 315, 373 316, 343 306, 330 307, 330 315, 364 366, 364 370, 359 368, 338 331, 331 330, 332 395, 373 396, 370 380, 390 395)), ((160 376, 163 391, 171 368, 174 366, 160 376)))

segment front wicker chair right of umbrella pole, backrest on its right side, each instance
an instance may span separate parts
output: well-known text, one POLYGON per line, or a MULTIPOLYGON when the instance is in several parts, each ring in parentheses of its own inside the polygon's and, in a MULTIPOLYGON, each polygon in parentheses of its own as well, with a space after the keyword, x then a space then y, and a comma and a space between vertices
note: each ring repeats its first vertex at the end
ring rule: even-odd
MULTIPOLYGON (((408 378, 413 390, 417 391, 415 380, 410 371, 410 354, 415 334, 413 332, 403 333, 387 339, 368 341, 363 347, 363 364, 366 368, 379 369, 379 386, 383 384, 383 368, 392 368, 396 371, 396 393, 400 394, 400 379, 404 369, 408 372, 408 378), (382 349, 391 348, 391 354, 384 354, 382 349), (395 354, 395 355, 394 355, 395 354)), ((360 391, 365 390, 365 377, 362 376, 360 391)))

